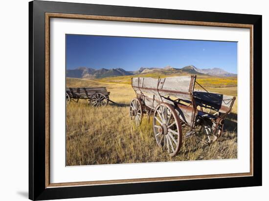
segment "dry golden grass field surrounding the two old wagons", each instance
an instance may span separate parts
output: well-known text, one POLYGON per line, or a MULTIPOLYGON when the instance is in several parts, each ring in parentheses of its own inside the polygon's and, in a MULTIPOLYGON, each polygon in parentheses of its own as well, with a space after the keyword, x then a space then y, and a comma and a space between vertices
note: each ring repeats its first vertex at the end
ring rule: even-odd
MULTIPOLYGON (((170 157, 156 143, 152 119, 148 121, 146 116, 139 127, 134 126, 129 117, 129 104, 135 98, 135 93, 130 83, 125 78, 122 80, 124 81, 110 78, 105 82, 105 79, 67 78, 67 87, 105 86, 111 92, 110 99, 119 103, 110 103, 102 108, 89 106, 88 101, 84 100, 67 104, 67 165, 237 158, 237 102, 225 121, 224 133, 219 141, 206 145, 192 137, 185 139, 183 135, 179 153, 170 157)), ((208 85, 216 80, 198 81, 208 85)), ((223 85, 213 84, 215 87, 207 87, 207 90, 237 96, 237 83, 234 79, 222 81, 223 85), (226 82, 233 83, 232 87, 223 88, 227 86, 226 82)))

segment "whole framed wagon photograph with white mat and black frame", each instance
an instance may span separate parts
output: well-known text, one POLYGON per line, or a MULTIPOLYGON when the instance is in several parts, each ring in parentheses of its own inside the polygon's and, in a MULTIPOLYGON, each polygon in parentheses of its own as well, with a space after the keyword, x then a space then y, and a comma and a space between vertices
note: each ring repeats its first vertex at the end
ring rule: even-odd
POLYGON ((262 185, 262 16, 29 2, 29 199, 262 185))

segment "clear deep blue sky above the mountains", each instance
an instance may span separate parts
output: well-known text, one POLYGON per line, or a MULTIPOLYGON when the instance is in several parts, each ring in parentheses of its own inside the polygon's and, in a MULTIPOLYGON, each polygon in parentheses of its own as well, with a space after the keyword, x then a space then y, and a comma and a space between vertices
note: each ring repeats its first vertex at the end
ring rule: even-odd
POLYGON ((66 35, 67 69, 222 68, 237 73, 237 42, 66 35))

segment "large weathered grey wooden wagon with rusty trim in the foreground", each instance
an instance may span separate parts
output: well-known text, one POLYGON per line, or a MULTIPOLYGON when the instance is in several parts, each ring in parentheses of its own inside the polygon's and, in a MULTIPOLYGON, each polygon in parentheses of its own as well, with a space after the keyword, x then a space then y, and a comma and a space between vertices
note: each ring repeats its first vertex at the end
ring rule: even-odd
POLYGON ((194 90, 196 83, 195 75, 132 78, 136 98, 131 101, 130 116, 139 125, 144 114, 153 114, 157 144, 170 156, 179 152, 183 131, 185 137, 195 135, 206 144, 218 140, 235 101, 235 97, 208 92, 201 84, 202 90, 194 90))

